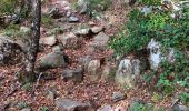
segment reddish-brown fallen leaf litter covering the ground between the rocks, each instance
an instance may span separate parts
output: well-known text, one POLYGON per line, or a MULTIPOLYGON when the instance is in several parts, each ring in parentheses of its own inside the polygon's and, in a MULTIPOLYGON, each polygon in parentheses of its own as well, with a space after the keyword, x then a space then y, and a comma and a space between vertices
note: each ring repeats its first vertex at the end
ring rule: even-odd
MULTIPOLYGON (((106 34, 113 36, 119 32, 121 26, 127 21, 127 13, 129 9, 119 7, 117 0, 113 0, 113 6, 106 11, 108 18, 110 18, 112 26, 106 29, 106 34)), ((94 22, 97 26, 106 26, 106 22, 99 22, 97 20, 90 19, 86 14, 76 13, 81 20, 80 23, 94 22)), ((56 24, 56 23, 54 23, 56 24)), ((60 26, 60 24, 59 24, 60 26)), ((43 38, 43 37, 41 37, 43 38)), ((112 53, 112 50, 106 50, 103 52, 86 52, 89 40, 86 40, 80 49, 77 50, 66 50, 66 54, 71 59, 69 63, 69 69, 77 67, 77 59, 79 57, 91 56, 96 59, 107 58, 112 53)), ((48 53, 51 49, 47 49, 46 52, 39 53, 38 58, 48 53)), ((97 109, 103 104, 111 104, 116 107, 128 108, 133 100, 141 100, 147 103, 153 103, 157 108, 162 107, 169 110, 171 107, 171 97, 167 97, 161 101, 153 101, 152 91, 149 91, 146 87, 138 87, 135 89, 123 89, 116 85, 113 82, 106 82, 99 79, 98 81, 91 81, 88 73, 84 73, 84 79, 80 83, 73 83, 72 81, 62 81, 61 73, 62 69, 50 69, 47 70, 54 79, 39 81, 38 87, 33 91, 32 89, 37 85, 34 82, 31 85, 30 91, 21 88, 21 83, 14 79, 14 71, 19 69, 19 64, 11 67, 0 68, 0 109, 11 104, 6 111, 18 111, 19 109, 14 107, 20 101, 27 103, 33 111, 41 111, 42 107, 52 108, 56 111, 56 104, 53 100, 47 98, 48 89, 56 89, 57 99, 58 98, 69 98, 73 100, 79 100, 83 102, 90 102, 97 109), (112 92, 120 91, 126 94, 126 98, 118 102, 112 102, 112 92)), ((47 72, 46 71, 46 72, 47 72)))

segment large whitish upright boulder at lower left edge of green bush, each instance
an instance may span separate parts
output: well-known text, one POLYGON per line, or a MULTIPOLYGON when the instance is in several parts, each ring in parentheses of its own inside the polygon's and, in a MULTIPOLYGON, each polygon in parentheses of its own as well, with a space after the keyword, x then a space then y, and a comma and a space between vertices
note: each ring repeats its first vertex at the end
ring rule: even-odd
POLYGON ((120 61, 115 81, 123 87, 135 87, 139 81, 140 61, 138 59, 123 59, 120 61))

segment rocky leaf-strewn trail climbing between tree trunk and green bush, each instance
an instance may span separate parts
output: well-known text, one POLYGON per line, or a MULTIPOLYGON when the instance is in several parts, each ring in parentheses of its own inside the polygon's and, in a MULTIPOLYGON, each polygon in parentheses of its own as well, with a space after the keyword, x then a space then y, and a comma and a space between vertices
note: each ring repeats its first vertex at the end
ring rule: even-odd
MULTIPOLYGON (((41 27, 37 82, 18 82, 20 63, 0 68, 0 111, 129 111, 136 101, 169 111, 171 97, 159 102, 142 83, 135 89, 115 83, 118 61, 108 43, 127 21, 129 8, 113 0, 102 19, 93 19, 73 10, 71 2, 52 0, 51 7, 59 8, 52 16, 66 16, 41 27)), ((26 24, 20 26, 22 32, 28 31, 26 24)), ((27 48, 21 40, 17 43, 27 48)))

